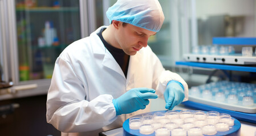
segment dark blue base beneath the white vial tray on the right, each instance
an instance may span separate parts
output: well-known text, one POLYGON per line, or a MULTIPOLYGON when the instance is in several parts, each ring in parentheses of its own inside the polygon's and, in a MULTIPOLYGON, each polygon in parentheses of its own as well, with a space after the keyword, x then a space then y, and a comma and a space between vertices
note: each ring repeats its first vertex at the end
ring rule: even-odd
POLYGON ((196 103, 193 101, 185 101, 182 104, 184 104, 186 107, 199 109, 202 111, 217 111, 220 113, 227 113, 227 114, 230 114, 232 117, 237 118, 237 120, 251 122, 251 123, 256 124, 256 113, 243 113, 243 112, 230 111, 227 109, 213 107, 210 105, 196 103))

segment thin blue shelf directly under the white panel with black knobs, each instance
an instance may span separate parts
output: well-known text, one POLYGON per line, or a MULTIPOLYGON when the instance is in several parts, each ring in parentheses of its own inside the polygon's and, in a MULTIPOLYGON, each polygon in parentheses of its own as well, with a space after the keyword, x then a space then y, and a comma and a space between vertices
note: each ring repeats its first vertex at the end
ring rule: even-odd
POLYGON ((221 65, 221 64, 213 64, 213 63, 185 62, 185 61, 176 61, 176 65, 204 67, 209 69, 256 72, 256 67, 249 67, 249 66, 221 65))

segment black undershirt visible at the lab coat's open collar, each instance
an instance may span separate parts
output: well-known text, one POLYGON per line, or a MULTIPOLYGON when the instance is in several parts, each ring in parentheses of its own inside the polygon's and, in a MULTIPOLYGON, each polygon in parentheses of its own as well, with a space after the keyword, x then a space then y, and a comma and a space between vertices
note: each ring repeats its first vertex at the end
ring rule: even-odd
POLYGON ((103 39, 102 32, 106 28, 102 28, 97 35, 100 37, 100 40, 103 42, 105 48, 112 54, 112 56, 115 58, 116 62, 119 64, 121 69, 123 70, 123 73, 125 75, 125 78, 127 78, 127 72, 128 72, 128 65, 129 65, 129 58, 127 54, 124 53, 123 49, 115 48, 114 46, 108 44, 107 41, 103 39))

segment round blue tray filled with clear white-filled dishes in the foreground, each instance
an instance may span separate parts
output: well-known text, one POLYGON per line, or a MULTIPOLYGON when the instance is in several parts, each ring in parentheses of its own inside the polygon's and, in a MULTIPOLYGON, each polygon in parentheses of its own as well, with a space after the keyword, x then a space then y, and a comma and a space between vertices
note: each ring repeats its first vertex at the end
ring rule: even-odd
POLYGON ((175 110, 175 111, 155 111, 149 113, 143 113, 133 116, 126 120, 123 124, 123 135, 168 135, 169 133, 173 135, 236 135, 239 134, 239 129, 241 124, 238 120, 231 117, 230 114, 219 113, 217 111, 193 111, 193 110, 175 110), (164 114, 163 114, 164 113, 164 114), (176 116, 176 118, 167 118, 172 114, 182 113, 193 113, 192 116, 188 116, 185 119, 182 116, 176 116), (205 114, 202 114, 205 113, 205 114), (155 118, 156 115, 161 114, 160 118, 155 118), (197 115, 200 116, 197 116, 197 115), (203 118, 195 118, 205 117, 203 118), (137 129, 131 129, 129 126, 132 120, 138 120, 138 118, 151 117, 150 124, 141 124, 137 129), (189 119, 190 118, 190 119, 189 119), (192 119, 193 118, 193 119, 192 119), (213 119, 216 122, 211 124, 208 119, 213 119), (194 122, 185 122, 184 120, 194 120, 194 122), (159 122, 159 120, 167 120, 166 122, 159 122), (232 125, 233 121, 233 125, 232 125))

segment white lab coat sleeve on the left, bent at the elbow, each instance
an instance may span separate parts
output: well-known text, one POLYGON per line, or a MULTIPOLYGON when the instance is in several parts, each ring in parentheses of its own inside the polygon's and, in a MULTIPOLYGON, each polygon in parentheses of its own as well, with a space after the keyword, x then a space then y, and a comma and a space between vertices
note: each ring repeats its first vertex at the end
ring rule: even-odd
POLYGON ((47 122, 72 133, 100 129, 115 121, 113 97, 105 94, 87 101, 84 86, 70 63, 59 57, 47 96, 47 122))

